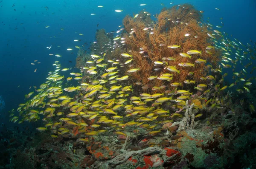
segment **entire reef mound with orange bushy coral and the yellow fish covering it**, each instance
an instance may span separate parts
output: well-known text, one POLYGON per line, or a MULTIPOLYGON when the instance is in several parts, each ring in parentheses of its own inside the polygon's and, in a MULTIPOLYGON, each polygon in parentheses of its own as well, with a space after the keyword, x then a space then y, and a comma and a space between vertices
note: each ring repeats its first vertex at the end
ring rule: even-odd
POLYGON ((224 86, 220 61, 232 45, 216 45, 223 35, 201 23, 190 4, 155 17, 126 16, 115 38, 97 30, 90 53, 79 49, 80 73, 70 73, 76 87, 64 83, 55 64, 17 108, 21 119, 10 112, 11 121, 36 121, 41 132, 6 151, 12 159, 6 166, 216 169, 237 159, 254 166, 256 136, 248 132, 255 131, 254 98, 239 93, 245 96, 237 104, 230 99, 237 93, 224 86))

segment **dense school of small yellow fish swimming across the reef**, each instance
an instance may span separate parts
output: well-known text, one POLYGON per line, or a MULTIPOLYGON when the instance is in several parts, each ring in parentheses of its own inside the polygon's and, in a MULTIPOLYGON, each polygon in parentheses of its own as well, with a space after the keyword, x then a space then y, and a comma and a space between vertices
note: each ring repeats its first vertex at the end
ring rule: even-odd
MULTIPOLYGON (((141 4, 141 6, 144 5, 141 4)), ((101 7, 103 6, 99 8, 101 7)), ((120 11, 116 10, 116 12, 120 11)), ((205 23, 198 24, 203 25, 205 23)), ((184 83, 194 86, 194 90, 191 87, 184 89, 179 82, 172 82, 173 73, 180 73, 180 70, 178 67, 166 65, 164 68, 166 73, 158 77, 149 76, 148 80, 160 79, 167 81, 168 85, 148 88, 144 90, 148 91, 146 93, 133 93, 134 87, 141 87, 142 89, 144 87, 145 89, 145 84, 142 84, 142 82, 132 84, 129 81, 132 73, 140 71, 140 68, 132 68, 127 72, 122 70, 123 67, 132 64, 133 56, 128 53, 120 53, 119 58, 125 59, 105 59, 110 50, 114 51, 117 46, 125 44, 125 39, 122 38, 123 28, 120 28, 117 31, 120 34, 113 38, 112 43, 106 44, 108 49, 99 54, 91 54, 86 62, 87 65, 82 67, 80 72, 70 72, 70 77, 64 77, 61 72, 70 71, 70 68, 61 68, 61 64, 56 61, 53 64, 55 70, 49 72, 47 81, 35 89, 34 92, 27 94, 26 98, 28 100, 26 103, 20 104, 17 108, 20 118, 15 116, 12 111, 11 121, 18 121, 18 123, 24 121, 35 122, 42 118, 44 126, 38 127, 37 130, 50 130, 53 138, 64 134, 72 134, 73 128, 78 127, 79 133, 83 135, 79 138, 79 141, 86 142, 88 137, 102 132, 126 135, 126 132, 138 128, 147 131, 149 135, 160 133, 163 124, 183 117, 186 110, 186 100, 192 99, 191 95, 195 94, 197 90, 204 93, 198 97, 203 102, 204 107, 211 105, 212 108, 221 108, 223 97, 220 98, 216 94, 213 98, 207 98, 209 88, 214 87, 215 92, 219 93, 236 85, 239 86, 237 88, 238 92, 250 93, 253 78, 246 79, 248 71, 246 69, 252 65, 252 59, 255 59, 254 52, 256 48, 255 44, 247 43, 247 45, 243 45, 237 39, 230 40, 224 32, 215 30, 214 25, 209 23, 207 25, 209 28, 208 36, 212 39, 212 45, 205 46, 205 51, 207 51, 207 54, 211 54, 211 49, 220 49, 222 51, 221 62, 217 69, 207 65, 210 72, 209 75, 201 77, 204 83, 195 84, 195 81, 192 80, 184 81, 184 83), (243 62, 248 63, 237 71, 237 65, 243 65, 243 62), (225 68, 229 68, 228 73, 233 73, 234 82, 231 85, 223 85, 224 77, 227 76, 227 73, 222 73, 226 71, 225 68), (211 73, 219 73, 222 78, 218 78, 218 82, 216 82, 217 76, 212 76, 211 73), (77 85, 69 86, 70 81, 77 85), (176 88, 175 90, 169 90, 170 87, 176 88), (150 94, 151 90, 162 91, 162 89, 165 90, 163 93, 150 94), (169 104, 171 108, 166 110, 163 108, 164 104, 169 104)), ((217 26, 217 28, 221 28, 221 26, 217 26)), ((191 35, 188 33, 184 36, 191 35)), ((197 38, 196 35, 195 38, 197 38)), ((179 44, 164 45, 166 45, 166 48, 174 50, 175 48, 182 48, 179 44)), ((75 48, 80 47, 75 46, 75 48)), ((73 49, 68 48, 67 50, 73 49)), ((201 51, 184 51, 180 54, 180 57, 191 58, 192 55, 200 56, 201 51)), ((61 55, 56 54, 55 56, 60 57, 61 55)), ((165 65, 166 63, 163 60, 156 61, 154 64, 165 65)), ((179 65, 195 67, 197 63, 207 64, 207 60, 197 59, 195 63, 188 62, 179 65)), ((252 71, 254 69, 255 67, 252 68, 252 71)), ((190 74, 193 76, 193 72, 190 72, 190 74)), ((195 108, 198 107, 195 106, 195 108)), ((250 110, 255 111, 252 104, 250 104, 250 110)), ((201 115, 198 114, 195 117, 201 115)))

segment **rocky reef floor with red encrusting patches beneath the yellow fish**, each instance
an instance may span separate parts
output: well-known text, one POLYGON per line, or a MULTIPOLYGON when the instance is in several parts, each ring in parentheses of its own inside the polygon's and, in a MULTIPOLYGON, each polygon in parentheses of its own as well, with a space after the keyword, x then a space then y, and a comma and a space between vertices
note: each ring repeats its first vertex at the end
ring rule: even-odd
MULTIPOLYGON (((89 166, 95 169, 100 167, 146 169, 155 166, 173 169, 182 167, 221 169, 234 168, 234 165, 239 168, 254 167, 255 149, 253 147, 256 145, 256 135, 247 130, 255 131, 256 121, 250 116, 242 117, 246 112, 241 112, 239 109, 234 113, 239 116, 233 115, 229 119, 221 116, 219 123, 212 126, 208 126, 205 119, 194 130, 187 128, 177 132, 177 135, 183 135, 183 137, 171 140, 167 144, 166 141, 153 144, 162 140, 165 137, 163 135, 143 139, 141 142, 143 144, 139 144, 139 150, 135 150, 137 142, 129 137, 125 138, 126 144, 122 146, 107 142, 100 144, 95 142, 90 146, 72 138, 50 138, 48 132, 41 132, 36 136, 29 134, 36 139, 27 141, 23 146, 20 144, 18 147, 8 148, 6 157, 12 160, 8 165, 7 162, 5 163, 8 168, 19 167, 20 169, 35 167, 81 169, 89 166), (239 130, 233 128, 236 127, 233 123, 239 125, 239 130), (238 132, 243 134, 239 135, 238 132), (87 146, 91 147, 94 155, 87 150, 87 146), (73 148, 70 149, 70 147, 73 148), (243 162, 244 165, 238 166, 235 161, 243 162)), ((7 131, 2 133, 12 137, 12 134, 7 134, 7 131)), ((101 137, 104 138, 103 135, 101 137)), ((3 166, 5 163, 2 163, 3 166)))

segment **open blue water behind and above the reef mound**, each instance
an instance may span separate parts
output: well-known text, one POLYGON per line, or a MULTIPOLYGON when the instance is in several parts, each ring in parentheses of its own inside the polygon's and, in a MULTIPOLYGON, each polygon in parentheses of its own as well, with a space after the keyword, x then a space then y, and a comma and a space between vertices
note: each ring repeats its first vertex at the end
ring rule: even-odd
POLYGON ((96 29, 116 31, 122 25, 125 15, 137 14, 144 8, 154 15, 160 13, 164 6, 168 8, 191 3, 198 10, 204 11, 204 21, 208 17, 212 25, 221 25, 222 21, 224 26, 218 30, 232 34, 243 44, 250 42, 250 39, 256 41, 255 0, 0 1, 0 96, 6 103, 5 110, 0 113, 1 123, 8 123, 8 111, 23 103, 24 95, 32 92, 33 86, 39 86, 46 81, 48 71, 54 68, 54 61, 60 61, 62 68, 74 67, 78 51, 74 48, 75 45, 81 46, 87 42, 86 48, 90 47, 90 42, 95 40, 96 29), (139 6, 141 3, 147 5, 139 6), (104 7, 97 8, 99 5, 104 7), (46 6, 49 10, 46 10, 46 6), (221 10, 218 11, 215 7, 221 10), (114 11, 116 9, 123 11, 117 13, 114 11), (91 13, 96 15, 90 15, 91 13), (221 17, 223 20, 220 20, 221 17), (50 27, 45 28, 47 25, 50 27), (74 42, 74 39, 81 41, 74 42), (51 45, 52 48, 48 50, 46 47, 51 45), (58 48, 58 45, 61 47, 58 48), (67 51, 67 48, 74 50, 67 51), (50 53, 60 54, 62 57, 49 56, 50 53), (34 60, 41 63, 30 65, 34 60), (35 68, 37 71, 34 73, 35 68), (29 90, 30 86, 32 88, 29 90))

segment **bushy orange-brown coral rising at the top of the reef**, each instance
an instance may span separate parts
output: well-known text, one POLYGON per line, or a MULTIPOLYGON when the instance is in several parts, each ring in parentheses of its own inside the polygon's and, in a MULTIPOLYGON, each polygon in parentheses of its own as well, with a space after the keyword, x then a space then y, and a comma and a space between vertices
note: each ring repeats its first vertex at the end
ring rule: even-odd
MULTIPOLYGON (((149 31, 144 29, 147 24, 141 18, 137 20, 127 16, 123 21, 127 32, 131 32, 131 28, 134 30, 133 34, 125 33, 123 35, 126 39, 126 50, 133 55, 132 68, 140 68, 140 71, 131 75, 132 81, 140 81, 144 85, 169 85, 171 82, 158 79, 149 81, 148 77, 158 77, 163 73, 172 73, 172 82, 180 82, 182 85, 187 79, 195 80, 196 83, 201 82, 200 77, 206 76, 208 69, 204 63, 198 64, 195 63, 195 60, 206 59, 207 62, 214 65, 218 62, 219 57, 216 55, 216 49, 212 50, 212 55, 205 51, 207 45, 212 45, 210 43, 212 39, 207 35, 207 25, 198 23, 201 18, 200 12, 195 10, 192 5, 185 4, 181 7, 163 8, 160 14, 156 15, 156 18, 157 22, 151 24, 153 34, 149 34, 149 31), (173 20, 175 22, 171 23, 173 20), (176 20, 182 21, 183 24, 176 22, 176 20), (190 34, 190 36, 185 36, 185 34, 190 34), (168 45, 180 45, 180 48, 167 48, 168 45), (180 53, 186 53, 189 50, 202 51, 202 54, 194 54, 191 59, 180 56, 180 53), (140 53, 140 51, 144 53, 140 53), (165 60, 166 65, 155 66, 154 62, 163 62, 163 57, 172 57, 175 60, 165 60), (186 62, 195 64, 195 66, 183 67, 179 65, 179 63, 186 62), (180 73, 163 69, 167 65, 175 66, 177 70, 180 70, 180 73), (162 70, 156 71, 155 69, 158 68, 162 68, 162 70), (189 72, 193 72, 194 75, 189 76, 189 72)), ((153 23, 148 19, 147 23, 153 23)))

